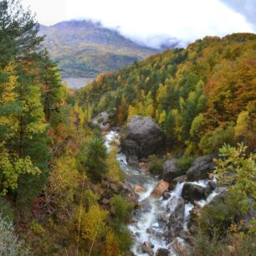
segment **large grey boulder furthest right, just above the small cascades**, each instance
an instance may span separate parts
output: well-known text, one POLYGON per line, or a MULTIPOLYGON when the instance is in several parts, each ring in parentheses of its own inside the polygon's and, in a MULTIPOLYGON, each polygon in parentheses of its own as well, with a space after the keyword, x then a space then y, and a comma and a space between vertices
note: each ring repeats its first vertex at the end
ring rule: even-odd
POLYGON ((200 156, 192 162, 192 166, 187 170, 187 180, 189 182, 195 182, 203 179, 207 179, 209 173, 214 172, 215 163, 213 158, 215 155, 200 156))

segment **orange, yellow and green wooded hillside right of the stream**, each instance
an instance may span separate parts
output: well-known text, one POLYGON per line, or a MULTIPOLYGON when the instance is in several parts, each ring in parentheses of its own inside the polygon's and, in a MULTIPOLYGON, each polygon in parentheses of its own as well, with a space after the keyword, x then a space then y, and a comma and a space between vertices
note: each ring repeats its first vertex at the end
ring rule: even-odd
POLYGON ((125 69, 102 74, 81 90, 93 115, 110 111, 115 125, 149 115, 167 146, 210 153, 223 142, 255 148, 256 35, 207 37, 125 69))

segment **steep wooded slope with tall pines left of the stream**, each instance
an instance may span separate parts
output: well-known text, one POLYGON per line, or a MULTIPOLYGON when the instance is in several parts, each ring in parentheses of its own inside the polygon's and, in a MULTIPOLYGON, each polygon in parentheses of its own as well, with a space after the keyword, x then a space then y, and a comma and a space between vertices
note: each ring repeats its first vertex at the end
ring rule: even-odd
POLYGON ((125 255, 132 204, 115 153, 38 31, 20 1, 0 2, 0 254, 125 255))

